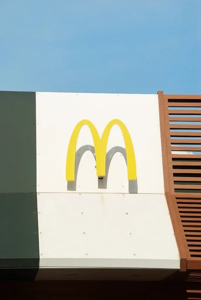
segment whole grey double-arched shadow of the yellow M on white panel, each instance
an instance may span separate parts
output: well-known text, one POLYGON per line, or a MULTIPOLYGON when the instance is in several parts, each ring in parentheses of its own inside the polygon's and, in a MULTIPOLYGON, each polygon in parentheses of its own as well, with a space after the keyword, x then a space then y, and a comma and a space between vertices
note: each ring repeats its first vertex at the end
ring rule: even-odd
MULTIPOLYGON (((95 148, 92 145, 84 145, 81 146, 75 154, 75 181, 68 181, 67 182, 67 190, 70 191, 76 191, 77 186, 77 175, 78 175, 78 168, 80 165, 80 161, 82 159, 82 156, 86 151, 92 152, 94 155, 95 148)), ((106 154, 106 171, 105 176, 102 179, 98 179, 98 188, 100 189, 106 189, 107 188, 107 180, 108 180, 108 172, 111 160, 116 153, 121 153, 125 159, 126 165, 127 165, 127 158, 126 158, 126 150, 123 147, 115 146, 112 147, 106 154)), ((95 156, 94 156, 95 158, 95 156)), ((96 160, 95 160, 96 161, 96 160)), ((138 187, 137 187, 137 180, 128 180, 128 191, 129 193, 137 193, 138 187)))

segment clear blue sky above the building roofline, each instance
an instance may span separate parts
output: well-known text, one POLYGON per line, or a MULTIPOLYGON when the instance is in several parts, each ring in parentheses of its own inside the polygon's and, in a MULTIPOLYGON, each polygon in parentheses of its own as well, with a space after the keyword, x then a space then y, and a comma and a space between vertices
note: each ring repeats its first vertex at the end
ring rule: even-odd
POLYGON ((201 0, 0 0, 0 90, 201 94, 201 0))

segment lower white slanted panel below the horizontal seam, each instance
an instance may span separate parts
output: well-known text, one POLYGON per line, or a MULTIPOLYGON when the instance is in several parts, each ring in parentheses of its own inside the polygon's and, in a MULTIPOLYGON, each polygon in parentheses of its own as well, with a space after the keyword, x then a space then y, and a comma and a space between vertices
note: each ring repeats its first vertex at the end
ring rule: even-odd
POLYGON ((179 269, 163 194, 39 193, 40 267, 179 269))

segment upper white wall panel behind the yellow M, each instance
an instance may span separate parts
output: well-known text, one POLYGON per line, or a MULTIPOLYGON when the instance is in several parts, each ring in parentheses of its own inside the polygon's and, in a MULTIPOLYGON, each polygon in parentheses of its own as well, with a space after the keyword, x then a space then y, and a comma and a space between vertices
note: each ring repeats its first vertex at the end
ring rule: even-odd
MULTIPOLYGON (((39 192, 164 192, 157 95, 37 92, 36 97, 39 192), (77 184, 67 184, 66 155, 76 124, 82 119, 89 119, 101 135, 107 123, 114 118, 123 121, 131 135, 137 182, 128 183, 127 167, 122 155, 125 152, 124 140, 119 127, 114 126, 107 148, 110 151, 108 160, 115 154, 108 178, 102 181, 97 179, 94 156, 86 151, 78 168, 77 184)), ((93 152, 93 140, 87 126, 80 131, 78 149, 91 149, 93 152)))

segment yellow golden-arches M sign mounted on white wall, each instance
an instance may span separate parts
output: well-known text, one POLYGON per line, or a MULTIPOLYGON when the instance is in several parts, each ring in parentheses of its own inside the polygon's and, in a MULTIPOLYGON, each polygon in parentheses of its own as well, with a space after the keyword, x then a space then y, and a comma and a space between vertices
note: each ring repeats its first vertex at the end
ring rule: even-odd
POLYGON ((106 151, 107 142, 110 130, 113 125, 118 125, 121 128, 124 137, 126 156, 127 156, 127 169, 128 169, 128 180, 136 180, 136 162, 135 153, 133 149, 133 143, 128 132, 128 129, 124 123, 118 119, 111 120, 105 127, 102 136, 100 137, 94 124, 89 120, 81 120, 74 128, 70 138, 67 158, 66 158, 66 180, 75 181, 75 154, 78 140, 78 134, 82 126, 87 125, 91 130, 91 134, 94 141, 95 156, 96 156, 96 173, 97 176, 105 176, 106 168, 106 151))

